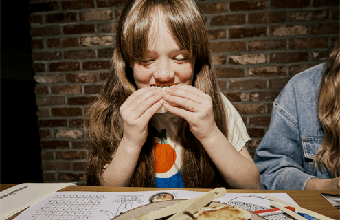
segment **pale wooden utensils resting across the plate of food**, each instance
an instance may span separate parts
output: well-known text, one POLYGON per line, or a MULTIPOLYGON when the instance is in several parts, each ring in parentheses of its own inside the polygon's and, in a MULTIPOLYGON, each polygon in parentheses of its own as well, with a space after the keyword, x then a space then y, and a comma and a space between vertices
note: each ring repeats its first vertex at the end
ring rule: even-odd
POLYGON ((206 192, 203 195, 199 195, 198 197, 194 197, 192 199, 176 203, 172 206, 162 208, 161 210, 145 214, 144 216, 139 217, 139 219, 155 220, 167 217, 171 214, 175 214, 173 219, 177 219, 177 217, 183 216, 185 212, 194 214, 194 212, 197 212, 199 209, 206 206, 210 201, 219 197, 223 197, 226 192, 227 190, 225 190, 225 188, 215 188, 214 190, 206 192))

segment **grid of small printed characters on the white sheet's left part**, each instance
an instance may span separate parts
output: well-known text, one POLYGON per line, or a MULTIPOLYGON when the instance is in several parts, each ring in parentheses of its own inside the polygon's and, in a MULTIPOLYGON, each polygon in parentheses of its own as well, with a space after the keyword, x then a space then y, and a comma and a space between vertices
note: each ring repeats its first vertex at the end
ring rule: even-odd
POLYGON ((104 195, 60 192, 27 219, 90 219, 104 199, 104 195))

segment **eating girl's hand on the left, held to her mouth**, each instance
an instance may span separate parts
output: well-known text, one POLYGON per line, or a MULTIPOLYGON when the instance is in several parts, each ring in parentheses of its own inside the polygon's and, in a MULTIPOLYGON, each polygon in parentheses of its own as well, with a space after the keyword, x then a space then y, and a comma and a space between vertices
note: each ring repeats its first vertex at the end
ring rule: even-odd
POLYGON ((120 107, 122 142, 127 146, 141 148, 148 136, 148 122, 162 104, 161 87, 144 87, 133 92, 120 107))

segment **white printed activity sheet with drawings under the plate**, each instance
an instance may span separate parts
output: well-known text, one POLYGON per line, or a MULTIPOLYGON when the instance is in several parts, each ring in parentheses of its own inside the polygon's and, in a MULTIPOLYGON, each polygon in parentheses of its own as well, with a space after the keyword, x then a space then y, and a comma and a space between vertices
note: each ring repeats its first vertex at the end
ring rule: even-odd
MULTIPOLYGON (((185 190, 141 191, 141 192, 54 192, 34 203, 19 214, 15 220, 31 219, 89 219, 111 220, 133 208, 157 201, 191 199, 204 192, 185 190)), ((227 193, 214 201, 220 201, 245 210, 271 208, 266 195, 297 205, 286 193, 227 193)), ((266 219, 291 219, 286 214, 276 214, 266 219)))

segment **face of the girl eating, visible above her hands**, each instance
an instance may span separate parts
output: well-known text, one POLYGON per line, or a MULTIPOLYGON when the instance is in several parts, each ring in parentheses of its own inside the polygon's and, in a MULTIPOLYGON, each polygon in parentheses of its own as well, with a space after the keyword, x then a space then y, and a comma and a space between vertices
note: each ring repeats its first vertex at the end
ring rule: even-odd
POLYGON ((155 19, 148 36, 144 60, 133 63, 137 89, 148 86, 192 85, 194 61, 177 45, 163 19, 155 19))

